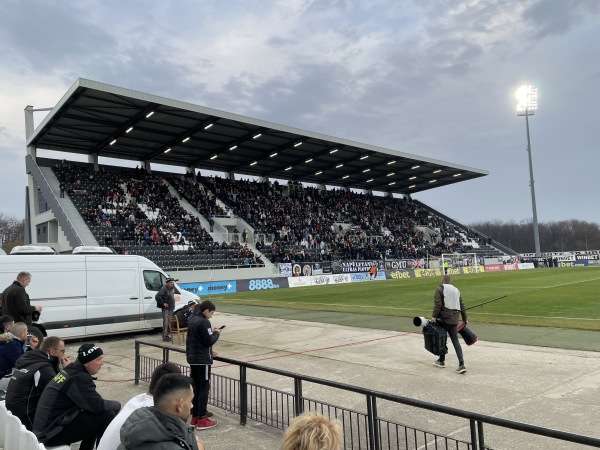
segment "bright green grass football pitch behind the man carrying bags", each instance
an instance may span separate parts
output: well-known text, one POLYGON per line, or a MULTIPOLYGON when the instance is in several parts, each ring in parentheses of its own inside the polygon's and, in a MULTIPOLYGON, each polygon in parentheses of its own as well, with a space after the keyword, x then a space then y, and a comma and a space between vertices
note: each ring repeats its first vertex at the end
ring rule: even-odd
MULTIPOLYGON (((600 267, 454 275, 469 322, 600 330, 600 267)), ((439 277, 272 289, 220 297, 228 305, 431 317, 439 277)))

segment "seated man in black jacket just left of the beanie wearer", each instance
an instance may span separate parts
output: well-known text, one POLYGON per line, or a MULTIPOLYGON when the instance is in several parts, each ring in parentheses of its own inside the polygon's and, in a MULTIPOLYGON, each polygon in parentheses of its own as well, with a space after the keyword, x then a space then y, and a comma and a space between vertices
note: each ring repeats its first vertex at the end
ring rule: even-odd
POLYGON ((30 350, 21 356, 6 390, 6 409, 21 419, 31 431, 38 401, 44 388, 59 371, 59 364, 67 367, 71 361, 65 356, 65 342, 50 336, 40 349, 30 350))

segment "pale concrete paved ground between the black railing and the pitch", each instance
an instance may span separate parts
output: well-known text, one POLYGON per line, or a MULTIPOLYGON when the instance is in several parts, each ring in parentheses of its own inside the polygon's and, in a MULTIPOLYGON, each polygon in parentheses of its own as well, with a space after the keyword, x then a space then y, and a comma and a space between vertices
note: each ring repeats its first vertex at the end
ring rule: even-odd
MULTIPOLYGON (((448 355, 448 368, 434 367, 435 357, 425 351, 420 329, 410 321, 219 304, 212 322, 227 325, 215 347, 225 357, 600 438, 597 332, 472 324, 480 340, 473 346, 463 346, 468 372, 458 375, 454 373, 453 349, 448 355), (358 328, 357 324, 373 328, 358 328), (555 347, 524 343, 551 343, 555 347)), ((160 342, 157 333, 138 337, 160 342)), ((146 388, 132 381, 134 339, 128 335, 97 341, 106 361, 97 384, 106 398, 125 402, 146 388)), ((79 345, 67 343, 67 353, 75 355, 79 345)), ((178 347, 176 343, 174 347, 178 347)), ((160 351, 154 354, 158 356, 160 351)), ((182 357, 173 358, 183 362, 182 357)), ((222 363, 215 364, 214 371, 237 374, 222 363)), ((293 392, 287 380, 256 373, 249 376, 293 392)), ((364 409, 360 397, 314 385, 306 385, 304 395, 324 396, 335 404, 364 409)), ((215 407, 212 410, 220 423, 200 432, 207 448, 279 448, 281 431, 252 422, 244 427, 236 416, 215 407)), ((379 413, 414 427, 459 438, 468 436, 463 420, 391 404, 380 405, 379 413)), ((493 427, 486 427, 486 442, 495 449, 583 448, 493 427)))

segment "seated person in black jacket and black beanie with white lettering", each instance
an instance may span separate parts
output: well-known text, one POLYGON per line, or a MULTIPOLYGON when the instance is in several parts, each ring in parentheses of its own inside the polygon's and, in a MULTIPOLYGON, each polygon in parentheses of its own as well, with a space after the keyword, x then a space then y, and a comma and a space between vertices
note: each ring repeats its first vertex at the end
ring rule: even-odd
POLYGON ((49 446, 81 441, 80 450, 93 450, 121 404, 104 400, 96 390, 94 375, 104 364, 102 349, 83 344, 77 359, 48 383, 38 402, 33 432, 49 446))

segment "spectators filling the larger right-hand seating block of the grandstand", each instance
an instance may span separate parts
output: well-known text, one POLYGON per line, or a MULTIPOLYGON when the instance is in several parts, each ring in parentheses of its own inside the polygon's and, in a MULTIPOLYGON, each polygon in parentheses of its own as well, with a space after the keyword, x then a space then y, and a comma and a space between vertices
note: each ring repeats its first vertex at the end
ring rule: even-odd
POLYGON ((257 250, 273 262, 422 258, 469 250, 453 225, 407 199, 297 183, 286 188, 277 181, 203 177, 201 184, 254 228, 257 250), (425 239, 417 225, 437 230, 433 239, 425 239), (265 235, 272 236, 268 246, 265 235))

